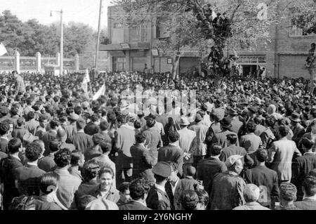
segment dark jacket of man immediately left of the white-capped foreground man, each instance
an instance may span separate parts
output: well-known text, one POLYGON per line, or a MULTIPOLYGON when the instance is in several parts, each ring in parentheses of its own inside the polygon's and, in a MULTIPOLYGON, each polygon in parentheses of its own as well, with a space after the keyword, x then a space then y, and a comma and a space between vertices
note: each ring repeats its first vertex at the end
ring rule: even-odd
POLYGON ((227 167, 224 162, 210 157, 209 159, 203 159, 197 165, 197 179, 203 180, 204 189, 208 189, 209 183, 213 180, 215 174, 225 171, 227 171, 227 167))

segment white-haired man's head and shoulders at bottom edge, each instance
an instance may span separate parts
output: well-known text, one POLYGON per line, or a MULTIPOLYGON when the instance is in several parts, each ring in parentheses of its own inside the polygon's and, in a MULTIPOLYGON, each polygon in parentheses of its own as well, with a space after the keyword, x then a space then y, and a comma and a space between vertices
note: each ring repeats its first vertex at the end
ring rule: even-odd
POLYGON ((270 210, 264 206, 261 206, 257 201, 260 197, 260 189, 254 184, 247 184, 244 187, 244 200, 246 204, 237 206, 232 210, 270 210))

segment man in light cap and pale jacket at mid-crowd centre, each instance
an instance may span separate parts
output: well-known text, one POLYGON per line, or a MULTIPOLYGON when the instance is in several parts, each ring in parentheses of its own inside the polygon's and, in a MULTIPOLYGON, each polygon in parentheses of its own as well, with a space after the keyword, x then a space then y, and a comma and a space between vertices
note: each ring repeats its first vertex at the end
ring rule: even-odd
POLYGON ((180 118, 180 129, 179 133, 179 146, 183 150, 183 177, 186 177, 187 166, 191 166, 193 163, 193 155, 190 151, 193 139, 197 136, 195 131, 187 129, 187 126, 190 125, 190 122, 186 117, 180 118))

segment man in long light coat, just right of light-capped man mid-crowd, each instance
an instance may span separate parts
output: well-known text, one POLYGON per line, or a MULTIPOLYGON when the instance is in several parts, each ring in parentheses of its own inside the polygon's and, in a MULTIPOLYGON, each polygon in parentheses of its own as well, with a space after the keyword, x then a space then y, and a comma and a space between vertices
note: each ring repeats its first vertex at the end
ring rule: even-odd
POLYGON ((193 139, 192 147, 190 151, 193 155, 193 166, 197 167, 199 161, 204 159, 206 156, 206 144, 205 138, 208 128, 202 124, 202 116, 197 113, 195 117, 195 122, 189 127, 189 130, 195 131, 197 136, 193 139))

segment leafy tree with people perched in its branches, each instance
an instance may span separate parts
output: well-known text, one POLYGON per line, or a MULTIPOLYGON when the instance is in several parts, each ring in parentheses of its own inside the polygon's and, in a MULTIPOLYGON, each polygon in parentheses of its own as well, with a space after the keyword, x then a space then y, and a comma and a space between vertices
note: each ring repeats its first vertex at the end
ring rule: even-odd
MULTIPOLYGON (((170 32, 170 37, 160 40, 157 47, 169 53, 181 52, 188 46, 201 51, 201 55, 208 55, 211 46, 216 46, 218 55, 223 56, 224 48, 228 46, 242 46, 243 48, 256 47, 256 42, 270 41, 268 29, 275 21, 277 1, 270 1, 270 16, 266 20, 258 20, 257 6, 259 1, 251 0, 117 0, 127 15, 126 25, 150 20, 154 22, 159 17, 164 17, 164 26, 170 32), (207 8, 216 13, 226 13, 227 29, 213 26, 213 13, 206 16, 207 8)), ((209 11, 210 12, 210 11, 209 11)), ((224 58, 220 59, 217 66, 223 71, 224 58)), ((173 64, 173 78, 178 66, 178 56, 173 64)))

